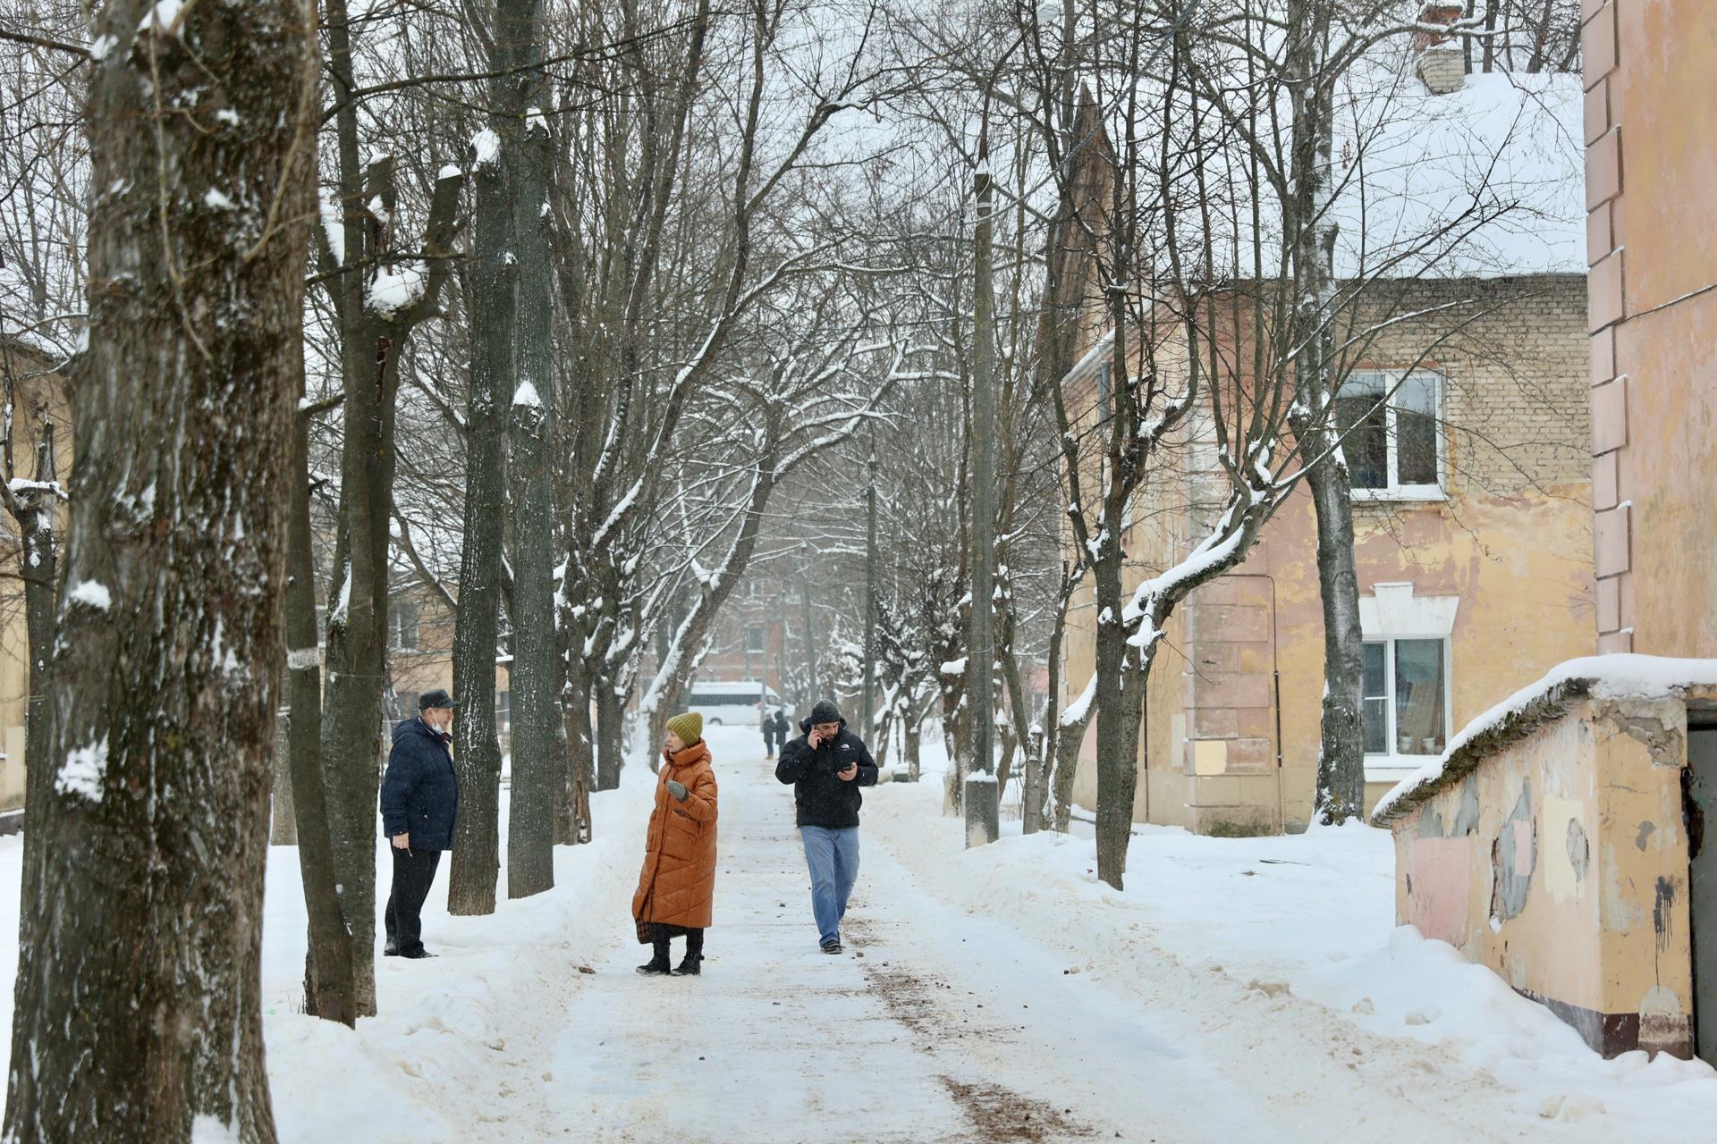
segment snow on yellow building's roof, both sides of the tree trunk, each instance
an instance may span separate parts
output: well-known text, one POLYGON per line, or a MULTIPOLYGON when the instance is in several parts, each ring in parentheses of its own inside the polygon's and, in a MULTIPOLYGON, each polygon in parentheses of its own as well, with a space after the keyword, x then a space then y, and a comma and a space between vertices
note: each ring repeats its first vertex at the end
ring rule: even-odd
MULTIPOLYGON (((1415 58, 1406 41, 1387 39, 1338 81, 1327 201, 1338 228, 1336 278, 1585 274, 1580 75, 1478 72, 1456 91, 1432 94, 1415 58)), ((1181 201, 1198 204, 1180 211, 1183 257, 1197 261, 1209 238, 1219 274, 1250 278, 1257 266, 1265 273, 1281 266, 1281 211, 1259 185, 1253 221, 1252 192, 1262 175, 1240 132, 1183 113, 1185 105, 1166 111, 1164 99, 1174 98, 1164 96, 1156 72, 1142 79, 1094 72, 1087 91, 1095 91, 1090 98, 1109 139, 1123 137, 1126 115, 1135 117, 1137 141, 1164 130, 1176 137, 1169 178, 1181 201)), ((1286 123, 1291 108, 1286 93, 1279 98, 1276 117, 1286 123)), ((1267 129, 1269 108, 1255 113, 1267 129)), ((1277 163, 1289 158, 1286 139, 1265 139, 1264 151, 1277 163)), ((1142 185, 1140 194, 1162 192, 1142 185)))

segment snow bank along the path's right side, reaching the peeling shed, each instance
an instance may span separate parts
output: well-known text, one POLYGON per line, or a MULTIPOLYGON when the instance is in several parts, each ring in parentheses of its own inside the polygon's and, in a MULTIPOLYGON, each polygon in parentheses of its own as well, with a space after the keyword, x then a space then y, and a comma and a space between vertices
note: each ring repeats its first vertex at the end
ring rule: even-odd
POLYGON ((1236 998, 1264 998, 1264 1057, 1296 1051, 1291 1038, 1305 1034, 1415 1087, 1501 1106, 1514 1123, 1496 1130, 1509 1139, 1547 1120, 1556 1139, 1581 1141, 1678 1139, 1717 1120, 1708 1065, 1604 1060, 1489 969, 1398 928, 1386 830, 1210 839, 1140 825, 1125 892, 1097 880, 1080 823, 1083 837, 1023 837, 1004 822, 1001 842, 965 849, 963 822, 941 815, 941 784, 867 791, 865 830, 927 892, 1059 950, 1068 974, 1125 990, 1150 981, 1217 1024, 1236 998))

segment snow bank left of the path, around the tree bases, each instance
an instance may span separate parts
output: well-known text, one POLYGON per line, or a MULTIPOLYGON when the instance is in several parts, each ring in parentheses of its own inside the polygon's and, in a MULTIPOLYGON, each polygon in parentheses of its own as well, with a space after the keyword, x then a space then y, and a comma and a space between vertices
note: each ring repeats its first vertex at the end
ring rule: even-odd
MULTIPOLYGON (((507 899, 507 794, 494 914, 446 912, 443 859, 424 906, 424 943, 436 959, 378 955, 379 1014, 355 1031, 300 1012, 307 923, 297 849, 270 847, 263 1034, 282 1144, 496 1139, 489 1120, 505 1111, 513 1086, 524 1087, 517 1070, 544 1067, 563 1034, 568 991, 601 988, 579 966, 598 960, 616 935, 632 936, 654 775, 628 765, 618 791, 594 794, 594 840, 555 847, 555 888, 522 900, 507 899)), ((376 868, 379 943, 391 870, 379 839, 376 868)))

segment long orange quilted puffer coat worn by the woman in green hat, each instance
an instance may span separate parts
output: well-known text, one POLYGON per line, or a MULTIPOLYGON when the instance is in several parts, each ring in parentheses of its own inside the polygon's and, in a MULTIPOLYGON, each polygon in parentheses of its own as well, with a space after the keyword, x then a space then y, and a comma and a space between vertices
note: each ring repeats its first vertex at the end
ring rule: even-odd
POLYGON ((649 816, 644 870, 632 895, 639 940, 647 923, 704 930, 716 897, 716 772, 709 744, 699 739, 676 755, 663 751, 656 810, 649 816), (685 784, 685 801, 668 794, 668 780, 685 784))

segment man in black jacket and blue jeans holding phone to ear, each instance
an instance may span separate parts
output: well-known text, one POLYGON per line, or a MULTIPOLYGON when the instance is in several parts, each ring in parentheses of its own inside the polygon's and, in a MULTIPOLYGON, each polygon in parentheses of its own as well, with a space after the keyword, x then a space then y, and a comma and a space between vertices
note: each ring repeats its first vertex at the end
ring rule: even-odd
POLYGON ((841 918, 858 880, 858 787, 876 786, 876 762, 829 700, 817 700, 798 727, 804 736, 781 744, 774 777, 793 784, 817 940, 824 954, 840 954, 841 918))

